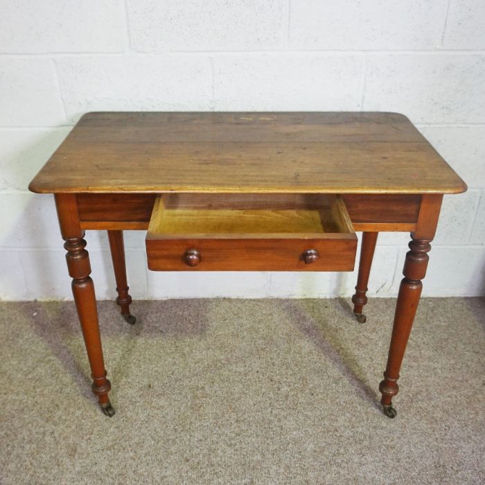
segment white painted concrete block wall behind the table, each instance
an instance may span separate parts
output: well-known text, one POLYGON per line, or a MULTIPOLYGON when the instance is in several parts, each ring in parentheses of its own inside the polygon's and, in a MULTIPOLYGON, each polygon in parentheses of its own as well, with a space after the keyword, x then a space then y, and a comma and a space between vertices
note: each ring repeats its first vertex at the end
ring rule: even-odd
MULTIPOLYGON (((485 293, 482 0, 6 0, 0 15, 0 299, 70 299, 37 170, 91 110, 403 112, 464 177, 446 197, 424 294, 485 293)), ((379 238, 369 294, 396 295, 409 236, 379 238)), ((96 292, 114 297, 104 233, 96 292)), ((125 235, 132 295, 349 296, 356 274, 159 274, 125 235)))

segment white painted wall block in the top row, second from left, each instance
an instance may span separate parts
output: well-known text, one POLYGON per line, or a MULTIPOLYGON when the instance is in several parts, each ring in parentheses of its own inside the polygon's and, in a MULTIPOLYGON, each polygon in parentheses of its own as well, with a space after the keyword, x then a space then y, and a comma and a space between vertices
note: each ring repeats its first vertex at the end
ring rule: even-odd
POLYGON ((282 48, 287 0, 128 0, 132 48, 140 52, 282 48))

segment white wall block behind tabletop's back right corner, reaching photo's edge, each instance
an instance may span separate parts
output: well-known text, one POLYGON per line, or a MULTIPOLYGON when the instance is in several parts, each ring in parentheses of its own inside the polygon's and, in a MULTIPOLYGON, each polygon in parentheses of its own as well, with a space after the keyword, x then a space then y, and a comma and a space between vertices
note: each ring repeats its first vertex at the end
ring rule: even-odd
POLYGON ((485 123, 484 79, 484 54, 369 55, 362 109, 405 112, 414 123, 485 123))

